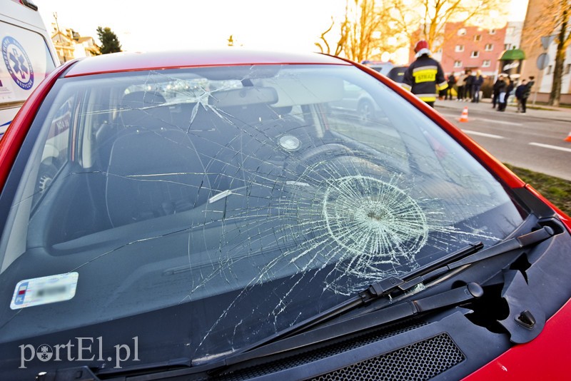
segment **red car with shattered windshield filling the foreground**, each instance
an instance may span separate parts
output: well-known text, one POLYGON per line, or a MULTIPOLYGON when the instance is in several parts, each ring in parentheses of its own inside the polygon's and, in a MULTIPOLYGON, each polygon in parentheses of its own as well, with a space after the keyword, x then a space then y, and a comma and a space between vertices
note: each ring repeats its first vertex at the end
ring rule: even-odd
POLYGON ((0 163, 2 380, 567 375, 570 218, 366 66, 70 61, 0 163))

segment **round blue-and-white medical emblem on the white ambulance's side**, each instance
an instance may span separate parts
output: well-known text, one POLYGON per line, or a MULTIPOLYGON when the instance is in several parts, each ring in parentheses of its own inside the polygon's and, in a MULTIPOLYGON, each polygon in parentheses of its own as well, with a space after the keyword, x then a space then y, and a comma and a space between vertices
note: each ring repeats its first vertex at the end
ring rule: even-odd
POLYGON ((24 90, 34 86, 34 68, 26 51, 14 37, 2 40, 2 58, 14 82, 24 90))

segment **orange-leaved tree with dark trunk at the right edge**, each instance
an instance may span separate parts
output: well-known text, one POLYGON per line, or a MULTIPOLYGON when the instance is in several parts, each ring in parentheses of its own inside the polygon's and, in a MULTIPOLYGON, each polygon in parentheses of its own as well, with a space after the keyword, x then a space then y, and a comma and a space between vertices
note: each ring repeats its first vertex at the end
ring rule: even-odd
POLYGON ((532 25, 535 32, 528 36, 525 44, 539 44, 542 36, 555 34, 553 41, 557 44, 557 51, 548 103, 551 106, 559 106, 565 52, 571 44, 571 0, 546 1, 532 20, 532 25))

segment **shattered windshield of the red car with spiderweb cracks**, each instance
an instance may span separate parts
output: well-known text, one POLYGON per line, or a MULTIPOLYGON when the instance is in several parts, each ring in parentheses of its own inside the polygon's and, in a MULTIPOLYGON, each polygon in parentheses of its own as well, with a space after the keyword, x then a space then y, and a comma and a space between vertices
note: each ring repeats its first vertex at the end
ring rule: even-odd
POLYGON ((213 358, 522 222, 353 66, 64 78, 26 143, 1 204, 1 342, 123 321, 143 362, 213 358))

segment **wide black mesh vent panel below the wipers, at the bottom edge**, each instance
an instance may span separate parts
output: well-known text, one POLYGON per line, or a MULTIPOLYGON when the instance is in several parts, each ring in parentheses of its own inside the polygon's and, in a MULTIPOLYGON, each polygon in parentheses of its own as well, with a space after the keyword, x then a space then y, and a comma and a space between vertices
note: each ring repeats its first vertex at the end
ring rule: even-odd
POLYGON ((465 360, 446 333, 311 379, 429 380, 465 360))

